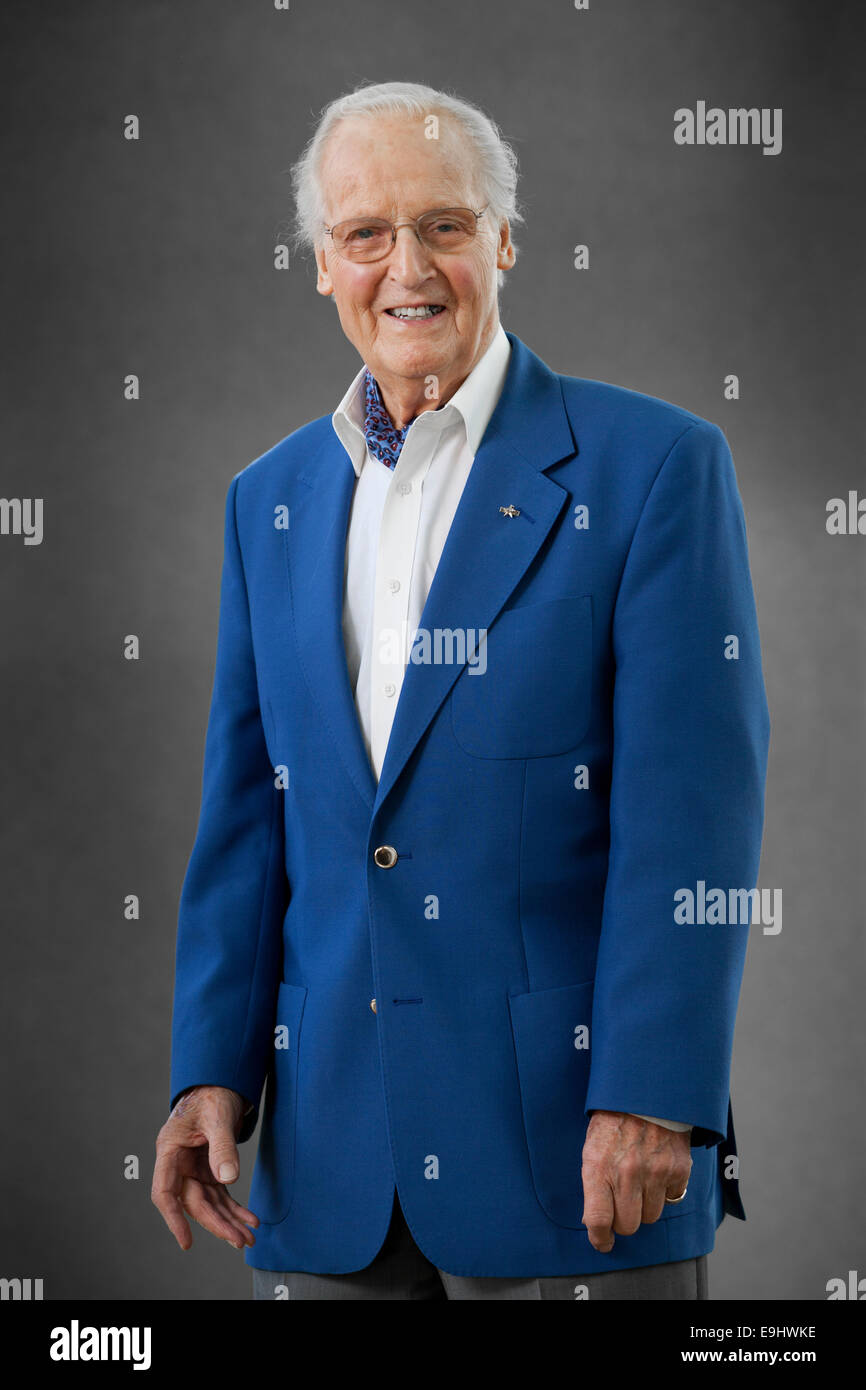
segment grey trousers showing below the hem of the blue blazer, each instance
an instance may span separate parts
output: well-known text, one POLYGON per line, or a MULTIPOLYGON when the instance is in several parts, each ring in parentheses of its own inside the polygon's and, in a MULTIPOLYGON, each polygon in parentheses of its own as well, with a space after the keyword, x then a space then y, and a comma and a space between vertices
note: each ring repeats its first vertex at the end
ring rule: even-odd
POLYGON ((603 1275, 553 1275, 544 1279, 470 1279, 436 1269, 416 1245, 393 1198, 388 1234, 375 1259, 350 1275, 309 1275, 253 1269, 253 1298, 706 1298, 706 1255, 603 1275))

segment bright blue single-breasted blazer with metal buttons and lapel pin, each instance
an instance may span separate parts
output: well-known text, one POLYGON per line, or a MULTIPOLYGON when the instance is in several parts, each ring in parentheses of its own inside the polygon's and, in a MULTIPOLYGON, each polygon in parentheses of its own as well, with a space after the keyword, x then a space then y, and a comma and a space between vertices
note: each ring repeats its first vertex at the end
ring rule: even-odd
POLYGON ((674 899, 751 890, 760 855, 769 716, 731 455, 698 416, 507 336, 420 623, 487 638, 410 662, 378 784, 331 417, 228 488, 171 1098, 232 1087, 256 1102, 243 1140, 267 1081, 245 1257, 263 1269, 363 1268, 395 1186, 455 1275, 685 1259, 744 1216, 726 1159, 749 929, 683 924, 674 899), (581 1225, 592 1109, 696 1126, 685 1201, 606 1255, 581 1225))

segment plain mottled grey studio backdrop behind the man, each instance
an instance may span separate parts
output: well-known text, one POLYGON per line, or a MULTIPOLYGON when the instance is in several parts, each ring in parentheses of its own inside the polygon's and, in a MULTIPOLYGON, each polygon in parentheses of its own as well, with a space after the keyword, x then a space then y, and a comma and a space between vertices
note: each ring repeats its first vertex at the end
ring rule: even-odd
POLYGON ((0 24, 0 493, 46 512, 40 546, 0 537, 0 1273, 47 1298, 249 1297, 240 1255, 199 1227, 181 1255, 149 1198, 224 500, 360 366, 310 263, 278 272, 272 247, 314 113, 400 78, 478 103, 518 150, 505 327, 730 439, 773 720, 760 885, 784 927, 752 930, 733 1073, 749 1220, 720 1229, 710 1295, 815 1300, 865 1275, 866 538, 824 530, 863 481, 862 7, 7 0, 0 24), (698 99, 783 107, 781 154, 677 147, 698 99))

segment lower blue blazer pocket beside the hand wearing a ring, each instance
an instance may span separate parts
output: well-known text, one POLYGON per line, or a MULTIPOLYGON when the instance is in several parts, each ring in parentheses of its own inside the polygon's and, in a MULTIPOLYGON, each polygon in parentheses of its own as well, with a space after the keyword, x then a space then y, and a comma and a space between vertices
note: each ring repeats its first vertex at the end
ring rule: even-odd
POLYGON ((559 1226, 582 1227, 592 980, 509 997, 532 1186, 559 1226))

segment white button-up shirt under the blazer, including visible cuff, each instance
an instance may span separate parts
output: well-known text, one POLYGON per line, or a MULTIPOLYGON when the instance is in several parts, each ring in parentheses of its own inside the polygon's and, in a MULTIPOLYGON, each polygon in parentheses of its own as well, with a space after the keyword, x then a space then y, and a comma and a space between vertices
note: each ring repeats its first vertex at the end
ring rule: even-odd
MULTIPOLYGON (((496 409, 512 345, 502 324, 461 386, 417 416, 393 468, 364 436, 361 367, 332 423, 357 482, 346 538, 343 641, 359 721, 378 780, 403 674, 468 471, 496 409)), ((641 1119, 653 1119, 645 1115, 641 1119)), ((667 1129, 691 1126, 655 1120, 667 1129)))

